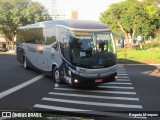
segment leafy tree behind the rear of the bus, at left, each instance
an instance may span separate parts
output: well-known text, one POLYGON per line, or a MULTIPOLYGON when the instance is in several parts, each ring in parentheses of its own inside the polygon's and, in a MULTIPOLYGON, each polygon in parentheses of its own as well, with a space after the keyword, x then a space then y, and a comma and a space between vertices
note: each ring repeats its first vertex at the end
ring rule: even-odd
POLYGON ((38 2, 31 0, 0 0, 0 33, 4 34, 7 46, 14 46, 18 27, 50 19, 47 11, 38 2))

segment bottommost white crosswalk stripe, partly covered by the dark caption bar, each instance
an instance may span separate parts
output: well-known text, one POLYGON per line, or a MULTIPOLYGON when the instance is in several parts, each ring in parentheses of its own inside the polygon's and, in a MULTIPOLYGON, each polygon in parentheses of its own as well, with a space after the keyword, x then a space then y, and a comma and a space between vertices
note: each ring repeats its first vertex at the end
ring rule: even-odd
MULTIPOLYGON (((53 110, 53 111, 64 111, 64 112, 85 113, 85 114, 92 114, 92 115, 99 115, 99 116, 113 116, 113 117, 130 118, 128 114, 123 114, 123 113, 100 112, 100 111, 94 111, 94 110, 57 107, 57 106, 49 106, 49 105, 42 105, 42 104, 36 104, 33 107, 42 108, 42 109, 49 109, 49 110, 53 110)), ((146 117, 138 117, 138 118, 146 119, 146 117)))

